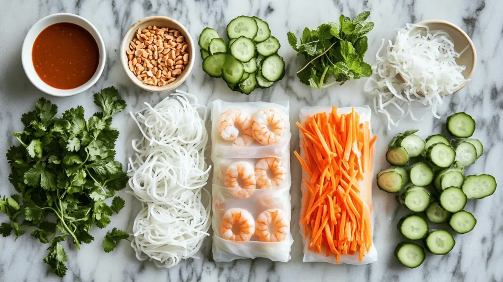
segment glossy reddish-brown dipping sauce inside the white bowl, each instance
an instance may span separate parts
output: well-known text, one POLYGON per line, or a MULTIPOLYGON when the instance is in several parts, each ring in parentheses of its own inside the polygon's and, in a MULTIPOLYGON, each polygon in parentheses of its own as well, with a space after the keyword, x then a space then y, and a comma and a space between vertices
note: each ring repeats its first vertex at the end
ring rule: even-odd
POLYGON ((71 23, 45 28, 32 49, 35 71, 47 85, 72 89, 88 82, 98 69, 100 50, 93 35, 71 23))

